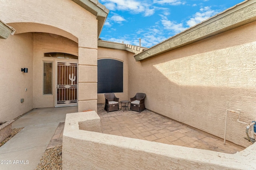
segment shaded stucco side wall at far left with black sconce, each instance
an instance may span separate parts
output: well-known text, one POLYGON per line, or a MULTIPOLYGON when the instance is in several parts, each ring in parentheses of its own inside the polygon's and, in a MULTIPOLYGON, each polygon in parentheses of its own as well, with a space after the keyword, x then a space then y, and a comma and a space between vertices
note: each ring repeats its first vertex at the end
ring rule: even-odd
POLYGON ((0 39, 0 53, 0 121, 7 121, 33 109, 33 33, 0 39))

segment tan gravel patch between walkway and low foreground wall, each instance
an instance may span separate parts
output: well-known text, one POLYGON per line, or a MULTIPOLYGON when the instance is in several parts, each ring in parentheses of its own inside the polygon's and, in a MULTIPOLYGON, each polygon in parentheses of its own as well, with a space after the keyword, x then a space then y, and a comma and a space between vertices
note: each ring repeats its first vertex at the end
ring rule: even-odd
POLYGON ((45 150, 35 170, 61 170, 62 146, 45 150))

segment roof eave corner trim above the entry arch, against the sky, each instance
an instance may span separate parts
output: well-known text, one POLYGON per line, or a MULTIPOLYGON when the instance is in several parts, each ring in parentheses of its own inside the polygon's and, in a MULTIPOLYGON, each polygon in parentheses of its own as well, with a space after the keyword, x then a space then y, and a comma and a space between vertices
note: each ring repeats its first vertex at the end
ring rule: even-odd
POLYGON ((98 20, 98 38, 100 37, 100 33, 102 31, 103 25, 108 16, 109 10, 102 4, 98 2, 98 0, 72 0, 76 4, 80 5, 82 8, 86 9, 98 20))

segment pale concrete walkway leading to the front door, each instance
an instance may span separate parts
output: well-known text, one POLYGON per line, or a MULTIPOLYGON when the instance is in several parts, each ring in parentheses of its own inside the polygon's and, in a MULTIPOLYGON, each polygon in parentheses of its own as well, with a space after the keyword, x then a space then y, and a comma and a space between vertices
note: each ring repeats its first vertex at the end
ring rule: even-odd
POLYGON ((66 113, 75 112, 77 106, 34 109, 14 121, 12 128, 24 129, 0 147, 0 170, 34 170, 66 113))

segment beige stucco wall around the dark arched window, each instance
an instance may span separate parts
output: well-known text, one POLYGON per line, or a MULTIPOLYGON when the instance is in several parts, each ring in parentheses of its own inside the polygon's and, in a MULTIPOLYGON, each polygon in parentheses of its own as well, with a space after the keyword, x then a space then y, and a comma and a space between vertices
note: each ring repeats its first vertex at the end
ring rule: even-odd
MULTIPOLYGON (((119 101, 130 100, 128 96, 128 57, 133 55, 134 53, 124 50, 98 48, 98 59, 115 59, 123 62, 123 92, 115 93, 119 101)), ((98 103, 105 103, 104 94, 98 94, 98 103)))

